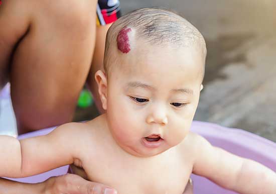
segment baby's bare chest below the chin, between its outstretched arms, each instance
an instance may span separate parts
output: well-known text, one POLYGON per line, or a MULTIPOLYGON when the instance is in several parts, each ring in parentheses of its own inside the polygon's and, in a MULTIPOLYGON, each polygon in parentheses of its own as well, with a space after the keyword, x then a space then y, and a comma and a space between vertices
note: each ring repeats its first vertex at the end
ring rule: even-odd
POLYGON ((88 178, 117 189, 120 194, 182 194, 192 171, 189 160, 176 154, 153 158, 109 154, 87 158, 88 178))

